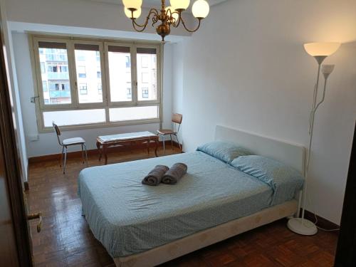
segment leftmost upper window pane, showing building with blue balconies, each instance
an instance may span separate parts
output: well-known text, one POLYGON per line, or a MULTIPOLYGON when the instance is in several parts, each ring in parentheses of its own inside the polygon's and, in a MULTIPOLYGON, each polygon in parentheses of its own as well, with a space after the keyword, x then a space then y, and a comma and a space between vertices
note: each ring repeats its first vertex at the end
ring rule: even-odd
POLYGON ((38 43, 45 105, 70 104, 66 43, 38 43))

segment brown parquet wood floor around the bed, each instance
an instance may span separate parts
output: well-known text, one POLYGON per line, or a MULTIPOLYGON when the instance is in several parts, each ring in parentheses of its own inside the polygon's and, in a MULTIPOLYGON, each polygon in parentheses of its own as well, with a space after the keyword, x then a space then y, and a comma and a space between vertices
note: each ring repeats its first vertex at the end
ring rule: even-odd
MULTIPOLYGON (((166 153, 177 153, 170 149, 166 153)), ((162 150, 159 150, 162 155, 162 150)), ((151 152, 149 157, 154 157, 151 152)), ((147 152, 115 152, 109 164, 147 158, 147 152)), ((89 166, 103 164, 95 155, 89 166)), ((30 212, 42 211, 43 228, 36 233, 31 222, 35 266, 115 266, 105 248, 91 233, 81 216, 77 177, 85 167, 79 158, 69 158, 67 173, 58 161, 29 166, 26 193, 30 212)), ((299 236, 286 228, 286 219, 248 231, 162 266, 333 266, 337 234, 319 231, 315 236, 299 236)))

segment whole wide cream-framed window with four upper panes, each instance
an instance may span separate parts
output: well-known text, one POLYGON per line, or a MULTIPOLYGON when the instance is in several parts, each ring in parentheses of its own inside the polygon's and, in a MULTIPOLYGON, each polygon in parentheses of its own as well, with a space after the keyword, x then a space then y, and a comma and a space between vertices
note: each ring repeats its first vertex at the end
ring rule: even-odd
MULTIPOLYGON (((160 45, 31 36, 38 128, 159 122, 160 45)), ((66 130, 66 128, 64 128, 66 130)))

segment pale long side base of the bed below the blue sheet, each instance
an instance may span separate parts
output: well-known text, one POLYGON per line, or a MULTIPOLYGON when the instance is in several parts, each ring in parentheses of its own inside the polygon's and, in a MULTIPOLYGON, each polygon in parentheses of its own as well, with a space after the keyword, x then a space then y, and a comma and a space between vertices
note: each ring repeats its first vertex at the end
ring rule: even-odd
POLYGON ((117 267, 140 267, 156 266, 160 263, 178 258, 192 251, 196 251, 205 246, 229 239, 237 234, 255 229, 258 226, 269 224, 272 221, 291 216, 297 212, 298 201, 295 199, 283 204, 272 206, 256 212, 249 216, 244 216, 226 224, 220 224, 196 234, 178 239, 169 244, 152 248, 142 253, 114 258, 117 267))

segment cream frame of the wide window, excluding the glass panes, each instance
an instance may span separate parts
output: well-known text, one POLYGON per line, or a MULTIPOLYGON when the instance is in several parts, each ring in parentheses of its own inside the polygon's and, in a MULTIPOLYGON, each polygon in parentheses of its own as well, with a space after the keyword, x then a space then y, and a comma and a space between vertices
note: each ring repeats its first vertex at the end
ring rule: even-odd
MULTIPOLYGON (((28 42, 30 44, 31 63, 33 70, 34 93, 36 98, 36 117, 38 124, 38 132, 52 132, 52 127, 45 127, 43 121, 43 112, 48 111, 63 111, 63 110, 91 110, 103 108, 105 109, 105 122, 80 124, 80 125, 66 125, 62 126, 61 130, 79 130, 96 127, 115 127, 121 125, 141 125, 146 123, 161 123, 162 122, 162 51, 163 46, 158 42, 142 42, 142 41, 122 41, 122 40, 108 40, 105 38, 83 38, 70 36, 47 36, 38 35, 36 33, 29 34, 28 42), (54 42, 66 43, 67 58, 68 58, 68 75, 70 83, 70 100, 68 104, 52 104, 46 105, 43 98, 41 63, 39 53, 39 42, 54 42), (75 66, 75 43, 93 44, 99 46, 100 54, 100 70, 101 70, 101 85, 102 85, 102 103, 79 103, 79 86, 75 66), (130 47, 131 57, 131 93, 132 101, 111 102, 110 100, 110 71, 108 64, 108 46, 125 46, 130 47), (136 51, 137 48, 156 48, 157 55, 157 100, 143 100, 138 101, 137 98, 137 66, 136 66, 136 51), (127 120, 120 122, 110 122, 109 109, 110 108, 125 108, 125 107, 140 107, 152 106, 158 108, 158 117, 146 120, 127 120)), ((49 88, 48 88, 49 90, 49 88)))

